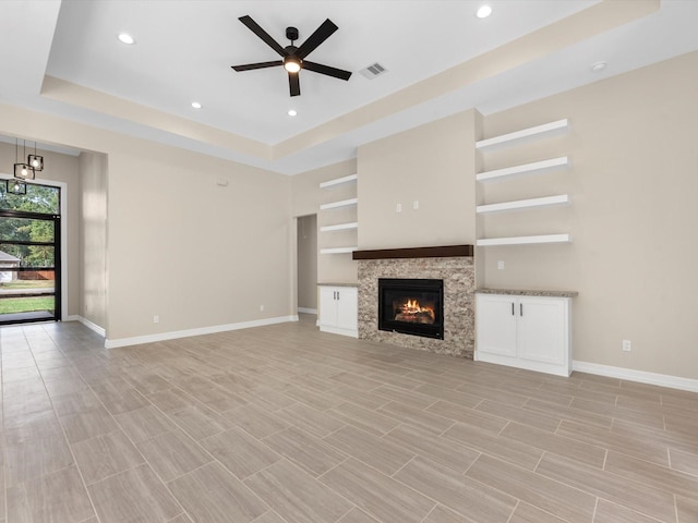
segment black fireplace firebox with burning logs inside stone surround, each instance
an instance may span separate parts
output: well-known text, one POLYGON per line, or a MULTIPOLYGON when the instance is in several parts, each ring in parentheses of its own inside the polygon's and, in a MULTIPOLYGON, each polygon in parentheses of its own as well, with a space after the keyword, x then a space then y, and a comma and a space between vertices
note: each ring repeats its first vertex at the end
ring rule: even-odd
POLYGON ((378 329, 444 339, 444 280, 378 279, 378 329))

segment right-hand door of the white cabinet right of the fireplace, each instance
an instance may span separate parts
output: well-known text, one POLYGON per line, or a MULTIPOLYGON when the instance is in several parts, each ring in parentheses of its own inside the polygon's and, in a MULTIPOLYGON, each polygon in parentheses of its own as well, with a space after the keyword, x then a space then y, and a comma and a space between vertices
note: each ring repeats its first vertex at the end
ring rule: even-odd
POLYGON ((567 302, 562 299, 522 297, 519 301, 519 357, 563 365, 567 356, 567 302))

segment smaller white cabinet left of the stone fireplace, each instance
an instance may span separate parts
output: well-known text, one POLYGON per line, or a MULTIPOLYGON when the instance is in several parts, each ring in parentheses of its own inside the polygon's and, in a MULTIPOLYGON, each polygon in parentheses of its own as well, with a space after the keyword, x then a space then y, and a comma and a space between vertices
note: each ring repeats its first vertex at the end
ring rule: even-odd
POLYGON ((359 296, 356 287, 320 287, 320 330, 359 337, 359 296))

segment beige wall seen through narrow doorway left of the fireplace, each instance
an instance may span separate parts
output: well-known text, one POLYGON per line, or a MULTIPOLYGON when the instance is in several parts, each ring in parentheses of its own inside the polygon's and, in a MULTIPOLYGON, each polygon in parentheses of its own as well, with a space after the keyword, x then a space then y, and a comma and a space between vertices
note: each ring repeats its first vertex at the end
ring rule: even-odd
POLYGON ((298 231, 298 306, 317 309, 317 215, 301 216, 298 231))

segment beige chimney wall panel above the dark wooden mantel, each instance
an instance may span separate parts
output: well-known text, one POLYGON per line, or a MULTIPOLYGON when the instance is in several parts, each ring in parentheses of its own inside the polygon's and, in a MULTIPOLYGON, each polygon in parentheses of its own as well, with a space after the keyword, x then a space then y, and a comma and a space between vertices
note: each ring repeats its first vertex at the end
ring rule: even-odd
POLYGON ((477 118, 466 111, 359 147, 359 248, 474 243, 477 118))

